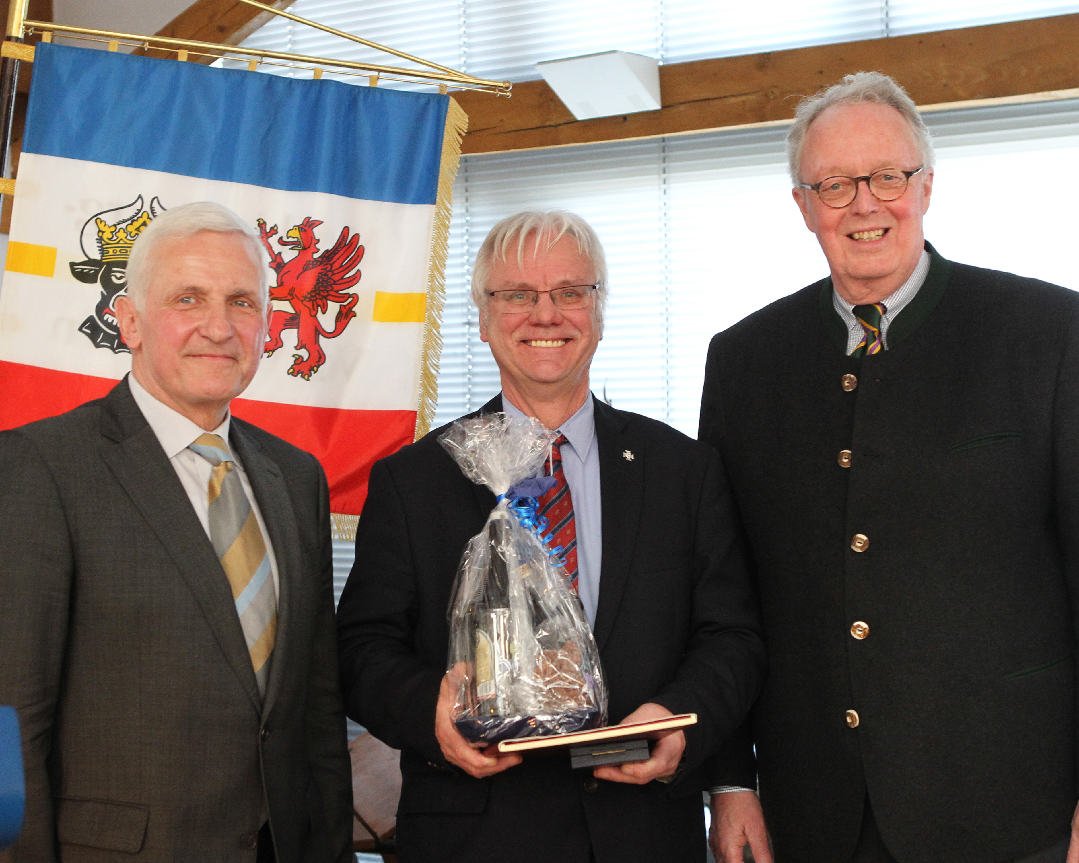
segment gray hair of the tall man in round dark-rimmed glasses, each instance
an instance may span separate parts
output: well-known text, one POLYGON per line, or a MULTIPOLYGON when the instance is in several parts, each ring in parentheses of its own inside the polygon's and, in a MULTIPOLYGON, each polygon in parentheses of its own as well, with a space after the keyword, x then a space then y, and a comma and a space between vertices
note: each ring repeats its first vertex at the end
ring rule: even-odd
MULTIPOLYGON (((802 183, 802 146, 814 120, 833 105, 861 105, 876 102, 894 108, 911 127, 911 134, 921 156, 921 164, 928 169, 933 166, 933 142, 914 100, 906 95, 894 79, 883 72, 855 72, 838 84, 820 91, 815 96, 806 96, 794 109, 794 125, 787 134, 787 160, 791 181, 802 183)), ((898 165, 896 167, 899 167, 898 165)))

